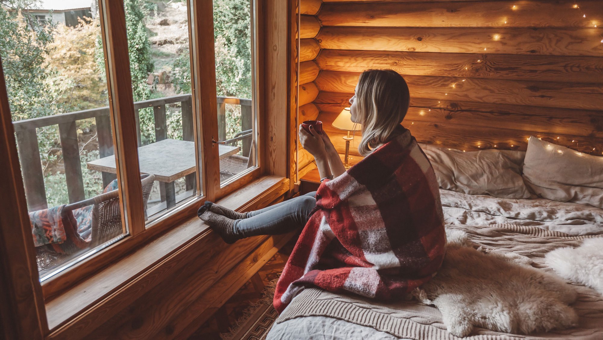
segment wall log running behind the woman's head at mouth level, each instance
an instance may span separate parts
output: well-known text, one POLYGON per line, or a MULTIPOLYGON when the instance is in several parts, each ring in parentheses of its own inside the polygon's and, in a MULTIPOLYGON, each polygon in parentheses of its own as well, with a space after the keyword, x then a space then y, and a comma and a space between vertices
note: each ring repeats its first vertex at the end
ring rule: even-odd
MULTIPOLYGON (((341 103, 317 106, 320 112, 333 114, 344 107, 341 103)), ((603 111, 412 98, 402 124, 417 121, 603 138, 603 111)))

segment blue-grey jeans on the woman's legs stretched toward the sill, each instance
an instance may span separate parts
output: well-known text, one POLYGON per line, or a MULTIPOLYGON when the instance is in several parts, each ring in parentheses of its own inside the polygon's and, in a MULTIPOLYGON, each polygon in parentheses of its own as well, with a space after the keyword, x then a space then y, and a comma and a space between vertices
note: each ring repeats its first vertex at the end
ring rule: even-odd
POLYGON ((242 238, 257 235, 279 235, 303 227, 316 206, 316 192, 291 198, 274 206, 247 213, 247 218, 237 219, 234 231, 242 238))

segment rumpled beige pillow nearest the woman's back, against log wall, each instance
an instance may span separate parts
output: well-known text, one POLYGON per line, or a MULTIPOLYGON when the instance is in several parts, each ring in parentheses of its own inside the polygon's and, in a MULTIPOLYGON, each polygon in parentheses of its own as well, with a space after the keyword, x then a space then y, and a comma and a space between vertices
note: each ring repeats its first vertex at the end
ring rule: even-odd
POLYGON ((463 152, 420 144, 434 167, 442 189, 498 198, 529 198, 522 180, 523 151, 482 150, 463 152))

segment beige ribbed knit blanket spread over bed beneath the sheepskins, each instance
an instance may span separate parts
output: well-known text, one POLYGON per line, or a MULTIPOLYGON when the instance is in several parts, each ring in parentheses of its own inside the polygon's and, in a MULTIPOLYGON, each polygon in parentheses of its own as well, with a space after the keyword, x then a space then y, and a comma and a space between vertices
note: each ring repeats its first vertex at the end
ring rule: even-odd
MULTIPOLYGON (((551 274, 554 272, 545 264, 546 253, 559 247, 577 247, 584 238, 601 237, 569 236, 514 224, 448 225, 447 228, 463 230, 469 241, 482 249, 508 253, 512 257, 524 256, 524 262, 531 262, 532 267, 551 274)), ((529 336, 476 328, 464 339, 603 339, 603 298, 586 286, 572 283, 572 287, 578 293, 576 302, 571 305, 578 314, 577 327, 529 336)), ((405 339, 459 339, 447 332, 440 310, 416 301, 384 303, 309 288, 292 301, 276 322, 301 316, 338 318, 405 339)))

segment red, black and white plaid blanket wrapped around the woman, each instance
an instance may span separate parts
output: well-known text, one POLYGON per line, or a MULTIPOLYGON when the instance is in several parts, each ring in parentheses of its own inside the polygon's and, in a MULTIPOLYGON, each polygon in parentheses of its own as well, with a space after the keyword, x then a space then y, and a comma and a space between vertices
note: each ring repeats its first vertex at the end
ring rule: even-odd
POLYGON ((435 275, 446 244, 438 183, 410 131, 397 132, 318 187, 317 210, 276 286, 279 312, 305 286, 385 300, 435 275))

